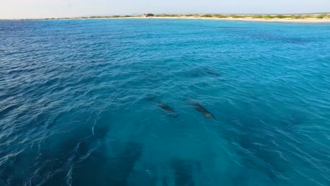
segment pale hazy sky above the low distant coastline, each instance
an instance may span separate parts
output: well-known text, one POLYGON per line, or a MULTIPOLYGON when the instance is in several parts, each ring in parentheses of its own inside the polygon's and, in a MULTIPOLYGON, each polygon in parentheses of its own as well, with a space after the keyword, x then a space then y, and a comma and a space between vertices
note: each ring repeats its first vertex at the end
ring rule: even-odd
POLYGON ((133 13, 314 13, 330 0, 0 0, 0 18, 59 18, 133 13))

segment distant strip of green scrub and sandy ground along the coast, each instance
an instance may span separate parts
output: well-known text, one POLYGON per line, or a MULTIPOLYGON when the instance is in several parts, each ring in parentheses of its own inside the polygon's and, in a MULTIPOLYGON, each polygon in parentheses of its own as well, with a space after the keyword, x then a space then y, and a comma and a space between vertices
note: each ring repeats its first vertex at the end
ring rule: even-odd
MULTIPOLYGON (((90 17, 79 17, 79 18, 44 18, 41 20, 68 20, 68 19, 102 19, 102 18, 139 18, 139 17, 159 17, 159 18, 253 18, 253 19, 330 19, 330 13, 323 13, 323 14, 278 14, 278 15, 236 15, 236 14, 218 14, 218 13, 207 13, 207 14, 152 14, 147 13, 141 16, 90 16, 90 17)), ((29 19, 22 19, 22 20, 29 20, 29 19)))

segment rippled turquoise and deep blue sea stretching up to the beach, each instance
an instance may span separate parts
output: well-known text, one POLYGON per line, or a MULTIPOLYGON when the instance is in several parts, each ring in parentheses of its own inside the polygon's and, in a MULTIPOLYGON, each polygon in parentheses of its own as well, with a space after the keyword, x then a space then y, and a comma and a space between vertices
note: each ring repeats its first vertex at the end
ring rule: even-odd
POLYGON ((0 185, 330 185, 330 24, 2 21, 0 185))

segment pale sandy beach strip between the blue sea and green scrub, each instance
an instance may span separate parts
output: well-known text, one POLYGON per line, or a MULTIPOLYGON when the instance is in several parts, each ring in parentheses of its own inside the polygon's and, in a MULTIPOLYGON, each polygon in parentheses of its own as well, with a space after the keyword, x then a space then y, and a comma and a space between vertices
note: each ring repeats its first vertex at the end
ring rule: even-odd
MULTIPOLYGON (((20 20, 94 20, 94 19, 189 19, 189 20, 231 20, 231 21, 253 21, 253 22, 269 22, 269 23, 330 23, 330 18, 203 18, 196 16, 171 16, 171 17, 99 17, 99 18, 44 18, 44 19, 20 19, 20 20)), ((13 21, 20 21, 13 20, 13 21)), ((0 19, 1 21, 1 19, 0 19)), ((8 21, 8 20, 3 20, 8 21)), ((10 21, 10 20, 9 20, 10 21)))

